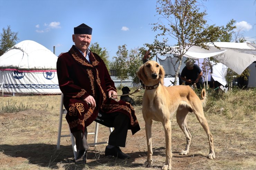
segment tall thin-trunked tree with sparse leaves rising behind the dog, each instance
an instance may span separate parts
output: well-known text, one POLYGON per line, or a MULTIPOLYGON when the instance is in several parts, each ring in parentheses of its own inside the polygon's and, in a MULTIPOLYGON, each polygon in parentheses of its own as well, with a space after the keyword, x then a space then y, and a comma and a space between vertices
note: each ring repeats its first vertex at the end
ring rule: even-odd
POLYGON ((146 44, 153 53, 162 56, 177 57, 179 66, 175 74, 174 84, 177 83, 178 73, 182 64, 183 55, 191 46, 200 46, 208 49, 205 42, 215 42, 222 34, 221 28, 207 25, 204 17, 205 10, 200 12, 200 4, 196 0, 158 0, 156 11, 161 16, 154 23, 153 30, 160 31, 153 44, 146 44), (163 19, 163 21, 162 21, 163 19), (164 37, 162 41, 159 41, 164 37), (174 39, 177 48, 170 48, 168 38, 174 39))

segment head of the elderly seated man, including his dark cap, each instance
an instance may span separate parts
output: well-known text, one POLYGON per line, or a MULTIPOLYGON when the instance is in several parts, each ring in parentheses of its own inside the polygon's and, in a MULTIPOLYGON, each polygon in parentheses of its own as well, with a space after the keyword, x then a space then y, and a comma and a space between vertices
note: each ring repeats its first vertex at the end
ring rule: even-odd
POLYGON ((80 26, 74 28, 72 39, 76 48, 82 52, 85 52, 91 43, 92 28, 82 23, 80 26))

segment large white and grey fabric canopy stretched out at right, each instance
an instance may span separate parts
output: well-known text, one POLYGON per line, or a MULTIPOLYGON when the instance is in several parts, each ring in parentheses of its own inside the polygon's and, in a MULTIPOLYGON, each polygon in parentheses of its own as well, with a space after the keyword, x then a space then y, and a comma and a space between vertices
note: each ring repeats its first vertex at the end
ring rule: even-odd
POLYGON ((209 50, 192 46, 186 51, 184 57, 194 59, 213 57, 237 74, 241 74, 250 64, 256 61, 256 44, 250 42, 214 42, 214 45, 220 49, 214 47, 212 43, 206 44, 209 50))

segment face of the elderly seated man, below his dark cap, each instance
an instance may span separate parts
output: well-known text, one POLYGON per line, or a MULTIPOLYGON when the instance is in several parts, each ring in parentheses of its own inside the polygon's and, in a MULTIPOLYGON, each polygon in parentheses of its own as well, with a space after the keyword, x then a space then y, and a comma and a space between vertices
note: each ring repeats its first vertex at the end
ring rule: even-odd
POLYGON ((75 46, 82 52, 89 47, 92 39, 92 35, 88 34, 73 34, 72 35, 73 42, 75 46))

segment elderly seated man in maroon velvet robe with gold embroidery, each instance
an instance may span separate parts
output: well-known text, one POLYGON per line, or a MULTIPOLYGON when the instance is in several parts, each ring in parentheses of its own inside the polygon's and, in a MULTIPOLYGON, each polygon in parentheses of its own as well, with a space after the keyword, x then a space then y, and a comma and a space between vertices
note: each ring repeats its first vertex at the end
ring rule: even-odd
POLYGON ((140 130, 134 108, 127 102, 115 100, 115 83, 98 54, 88 49, 92 28, 82 23, 74 28, 75 45, 57 60, 57 76, 67 110, 66 120, 75 137, 78 156, 86 163, 89 148, 87 126, 93 121, 114 127, 110 133, 105 156, 129 158, 119 147, 125 147, 128 129, 132 134, 140 130))

